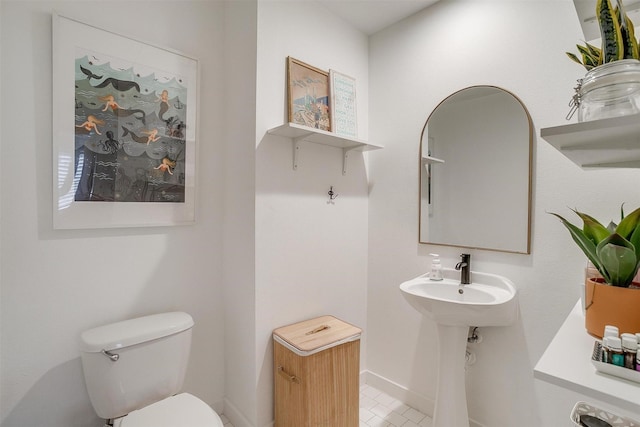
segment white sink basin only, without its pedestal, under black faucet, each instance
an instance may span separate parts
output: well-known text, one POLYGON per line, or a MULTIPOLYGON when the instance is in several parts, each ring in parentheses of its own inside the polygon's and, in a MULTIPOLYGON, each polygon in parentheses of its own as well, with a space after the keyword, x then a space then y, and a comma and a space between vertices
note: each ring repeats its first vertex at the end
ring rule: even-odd
POLYGON ((518 317, 513 283, 502 276, 471 272, 472 283, 460 285, 460 272, 445 268, 444 280, 425 274, 400 285, 416 310, 436 323, 451 326, 506 326, 518 317))

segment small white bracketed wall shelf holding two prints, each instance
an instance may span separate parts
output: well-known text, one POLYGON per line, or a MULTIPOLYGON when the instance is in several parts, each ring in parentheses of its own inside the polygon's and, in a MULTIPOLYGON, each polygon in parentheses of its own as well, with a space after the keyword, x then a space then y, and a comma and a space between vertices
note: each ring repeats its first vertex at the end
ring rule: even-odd
POLYGON ((293 141, 293 169, 298 169, 298 153, 303 142, 328 145, 341 148, 343 154, 342 174, 347 173, 347 158, 351 151, 369 151, 383 148, 382 145, 372 144, 357 138, 337 135, 320 129, 302 126, 296 123, 285 123, 281 126, 269 129, 270 135, 278 135, 290 138, 293 141))

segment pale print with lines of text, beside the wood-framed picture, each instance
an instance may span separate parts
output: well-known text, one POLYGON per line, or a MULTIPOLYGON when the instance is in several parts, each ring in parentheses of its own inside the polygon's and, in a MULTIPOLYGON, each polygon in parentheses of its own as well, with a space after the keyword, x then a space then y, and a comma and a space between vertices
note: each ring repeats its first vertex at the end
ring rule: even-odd
POLYGON ((357 138, 356 80, 335 70, 329 70, 329 84, 333 132, 336 135, 357 138))

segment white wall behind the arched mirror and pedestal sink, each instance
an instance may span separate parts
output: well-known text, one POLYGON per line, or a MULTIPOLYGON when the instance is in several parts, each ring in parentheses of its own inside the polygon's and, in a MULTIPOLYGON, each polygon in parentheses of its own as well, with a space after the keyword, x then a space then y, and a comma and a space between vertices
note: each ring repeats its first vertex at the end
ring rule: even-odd
MULTIPOLYGON (((371 381, 431 410, 436 332, 398 285, 429 268, 433 246, 418 240, 420 132, 435 106, 471 85, 516 94, 535 126, 561 125, 575 80, 564 52, 582 38, 569 0, 444 0, 370 39, 370 154, 367 369, 371 381), (403 331, 403 333, 398 333, 403 331)), ((606 221, 640 202, 640 172, 585 172, 536 136, 531 255, 473 250, 472 267, 519 289, 517 325, 484 328, 468 371, 469 413, 491 427, 559 426, 584 396, 533 379, 533 367, 578 299, 584 257, 548 211, 578 207, 606 221)), ((438 247, 451 267, 462 252, 438 247)), ((585 355, 589 357, 589 355, 585 355)))

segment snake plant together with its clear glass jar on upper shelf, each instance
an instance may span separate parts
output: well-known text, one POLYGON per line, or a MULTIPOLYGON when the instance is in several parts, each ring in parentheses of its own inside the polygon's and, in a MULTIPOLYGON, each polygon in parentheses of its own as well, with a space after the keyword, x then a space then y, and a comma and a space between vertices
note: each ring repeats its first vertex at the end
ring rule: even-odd
POLYGON ((572 102, 581 122, 640 113, 640 50, 633 22, 622 0, 617 0, 615 8, 611 0, 597 0, 596 18, 601 47, 585 42, 576 45, 580 57, 566 52, 587 70, 578 80, 572 102))

